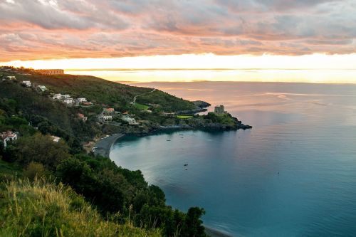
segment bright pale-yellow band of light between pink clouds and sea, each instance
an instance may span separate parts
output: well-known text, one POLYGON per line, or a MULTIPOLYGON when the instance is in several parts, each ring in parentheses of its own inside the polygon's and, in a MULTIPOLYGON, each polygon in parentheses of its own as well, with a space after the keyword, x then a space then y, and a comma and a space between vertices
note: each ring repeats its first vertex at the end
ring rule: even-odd
POLYGON ((356 54, 304 56, 217 56, 213 53, 123 58, 14 60, 1 65, 61 68, 68 74, 112 81, 253 81, 356 83, 356 54))

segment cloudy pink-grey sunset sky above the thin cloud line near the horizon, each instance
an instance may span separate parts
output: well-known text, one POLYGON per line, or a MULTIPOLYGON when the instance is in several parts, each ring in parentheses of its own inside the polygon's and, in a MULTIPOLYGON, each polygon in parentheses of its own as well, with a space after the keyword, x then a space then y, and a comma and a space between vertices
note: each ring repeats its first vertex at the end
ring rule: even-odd
POLYGON ((356 69, 355 53, 355 0, 0 0, 2 65, 356 69))

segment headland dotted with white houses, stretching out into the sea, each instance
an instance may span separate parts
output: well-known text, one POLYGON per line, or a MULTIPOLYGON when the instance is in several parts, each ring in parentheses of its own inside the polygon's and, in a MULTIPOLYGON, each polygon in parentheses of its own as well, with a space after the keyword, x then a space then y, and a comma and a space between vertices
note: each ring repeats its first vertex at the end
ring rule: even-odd
MULTIPOLYGON (((105 137, 117 132, 147 134, 159 129, 236 130, 251 128, 251 126, 243 125, 241 121, 232 117, 224 110, 223 105, 216 106, 214 112, 209 112, 207 115, 197 115, 197 112, 206 110, 204 107, 210 104, 204 101, 189 102, 155 89, 152 90, 152 88, 135 88, 119 83, 113 85, 122 88, 120 91, 124 93, 115 92, 112 93, 112 96, 108 96, 107 93, 93 90, 106 83, 110 83, 110 88, 112 88, 111 82, 93 77, 82 79, 82 77, 85 76, 65 75, 63 70, 58 69, 38 71, 26 68, 0 67, 0 82, 5 83, 3 85, 12 86, 11 83, 21 85, 19 88, 23 88, 21 89, 23 92, 36 94, 38 100, 47 98, 46 103, 52 101, 55 103, 53 104, 55 107, 57 106, 56 103, 59 103, 68 108, 68 119, 73 120, 73 122, 79 120, 82 123, 73 123, 73 125, 70 125, 72 128, 68 127, 68 132, 72 133, 72 136, 76 137, 75 139, 78 139, 84 146, 91 144, 90 140, 94 137, 105 137), (93 83, 92 78, 97 85, 85 89, 93 83), (67 85, 68 80, 73 84, 67 85), (64 86, 58 85, 61 83, 66 84, 63 84, 64 86), (135 93, 127 90, 129 88, 135 93), (117 95, 124 96, 124 100, 122 102, 113 100, 113 97, 117 97, 117 95), (80 131, 80 134, 83 135, 73 131, 80 131), (87 142, 89 143, 86 144, 87 142)), ((108 89, 103 88, 103 90, 108 89)), ((32 106, 31 103, 29 105, 32 106)), ((23 107, 23 110, 27 110, 26 107, 23 107)), ((51 112, 49 114, 48 112, 46 112, 46 116, 53 117, 53 113, 51 115, 51 112)), ((31 117, 32 115, 27 116, 31 117)), ((65 123, 68 126, 66 120, 65 117, 53 117, 50 122, 65 123)), ((30 122, 33 124, 31 118, 30 122)), ((46 127, 38 128, 36 126, 34 126, 35 129, 48 130, 46 127)), ((1 139, 4 140, 4 143, 16 139, 19 135, 18 131, 0 132, 3 132, 1 139), (18 133, 14 136, 11 132, 18 133)), ((48 134, 56 142, 63 137, 63 132, 58 133, 53 129, 49 130, 48 134)))

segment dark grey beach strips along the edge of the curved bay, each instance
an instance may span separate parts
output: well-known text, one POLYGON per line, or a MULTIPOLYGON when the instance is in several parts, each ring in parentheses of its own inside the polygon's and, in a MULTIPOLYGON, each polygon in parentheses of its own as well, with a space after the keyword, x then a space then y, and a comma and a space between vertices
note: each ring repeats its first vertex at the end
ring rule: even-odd
MULTIPOLYGON (((152 134, 147 134, 145 136, 150 136, 150 135, 152 134)), ((96 148, 94 150, 94 154, 101 155, 103 157, 108 157, 110 159, 110 151, 111 151, 112 144, 114 144, 117 141, 117 139, 120 139, 122 137, 125 137, 125 134, 117 133, 115 135, 110 135, 109 137, 103 137, 99 139, 95 143, 96 148)), ((205 228, 205 233, 210 237, 234 237, 231 234, 225 233, 223 231, 219 231, 216 228, 211 228, 209 226, 204 226, 204 228, 205 228)))

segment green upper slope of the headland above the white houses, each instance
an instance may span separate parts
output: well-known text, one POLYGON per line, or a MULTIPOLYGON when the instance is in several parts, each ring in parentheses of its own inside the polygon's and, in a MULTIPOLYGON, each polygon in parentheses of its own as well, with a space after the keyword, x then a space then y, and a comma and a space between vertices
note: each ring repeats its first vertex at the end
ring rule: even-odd
MULTIPOLYGON (((13 73, 2 72, 3 75, 13 73)), ((137 99, 148 104, 157 104, 162 110, 174 112, 179 110, 189 110, 194 108, 194 104, 187 100, 174 97, 160 90, 155 91, 154 96, 145 96, 152 91, 152 88, 140 88, 120 83, 114 83, 90 75, 41 75, 36 72, 16 73, 19 81, 31 80, 37 85, 46 85, 49 92, 70 94, 74 98, 84 97, 95 104, 117 107, 120 110, 130 110, 130 102, 135 95, 140 95, 137 99), (29 75, 23 75, 29 74, 29 75)))

